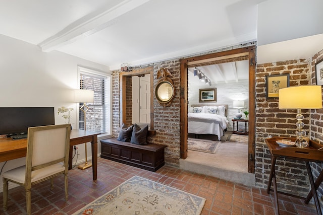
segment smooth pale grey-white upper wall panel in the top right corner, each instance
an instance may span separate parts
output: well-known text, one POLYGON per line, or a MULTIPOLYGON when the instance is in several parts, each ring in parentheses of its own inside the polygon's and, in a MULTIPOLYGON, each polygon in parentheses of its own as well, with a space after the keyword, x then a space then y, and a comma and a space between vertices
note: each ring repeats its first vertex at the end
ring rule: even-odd
POLYGON ((323 33, 322 8, 322 0, 271 0, 260 3, 257 44, 260 46, 323 33))

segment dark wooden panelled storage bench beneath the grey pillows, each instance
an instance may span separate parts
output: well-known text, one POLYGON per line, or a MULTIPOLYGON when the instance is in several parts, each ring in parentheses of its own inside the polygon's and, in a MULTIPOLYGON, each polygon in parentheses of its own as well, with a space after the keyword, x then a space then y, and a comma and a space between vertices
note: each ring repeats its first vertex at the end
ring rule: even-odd
POLYGON ((102 139, 101 158, 155 172, 164 166, 164 145, 146 146, 123 142, 117 138, 102 139))

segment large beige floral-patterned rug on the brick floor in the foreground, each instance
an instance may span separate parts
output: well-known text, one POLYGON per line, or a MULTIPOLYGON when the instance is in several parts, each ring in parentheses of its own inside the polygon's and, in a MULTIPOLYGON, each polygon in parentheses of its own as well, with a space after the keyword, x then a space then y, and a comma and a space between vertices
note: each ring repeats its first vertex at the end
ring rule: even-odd
POLYGON ((205 199, 134 176, 73 215, 85 214, 200 214, 205 199))

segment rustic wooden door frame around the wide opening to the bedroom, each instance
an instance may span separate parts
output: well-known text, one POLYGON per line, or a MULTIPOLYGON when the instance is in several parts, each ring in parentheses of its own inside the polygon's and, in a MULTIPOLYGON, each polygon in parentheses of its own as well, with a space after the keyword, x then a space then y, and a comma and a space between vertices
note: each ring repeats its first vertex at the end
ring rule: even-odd
POLYGON ((256 46, 248 46, 217 53, 205 54, 181 59, 181 159, 187 158, 187 110, 188 110, 188 67, 216 64, 221 60, 248 59, 249 60, 249 139, 248 139, 248 172, 254 173, 255 166, 255 55, 256 46))

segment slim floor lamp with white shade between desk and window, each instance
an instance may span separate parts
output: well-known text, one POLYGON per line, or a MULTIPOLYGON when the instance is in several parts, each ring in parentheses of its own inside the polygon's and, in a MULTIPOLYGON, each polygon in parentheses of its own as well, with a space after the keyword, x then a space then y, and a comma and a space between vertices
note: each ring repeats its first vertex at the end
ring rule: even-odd
MULTIPOLYGON (((86 111, 90 108, 86 105, 86 103, 93 103, 94 101, 94 91, 93 90, 74 90, 74 102, 83 103, 83 106, 80 107, 80 110, 84 114, 84 130, 86 130, 86 111)), ((85 142, 85 163, 79 165, 77 168, 81 170, 85 170, 91 167, 92 164, 87 162, 87 147, 85 142)))

